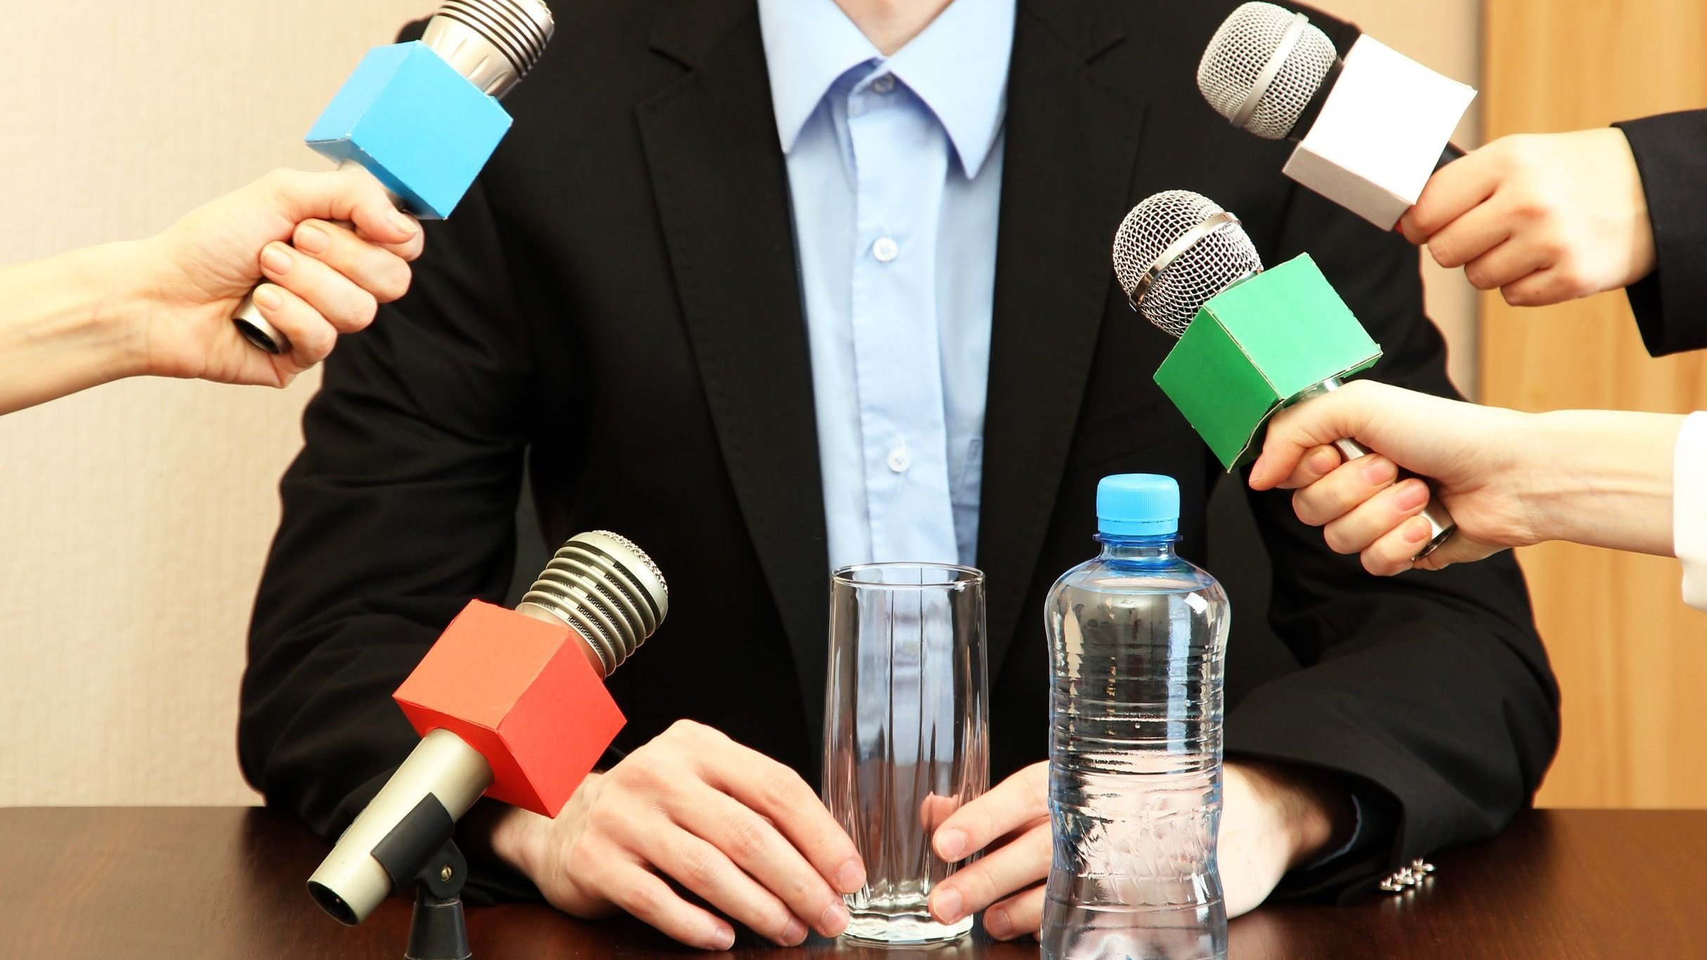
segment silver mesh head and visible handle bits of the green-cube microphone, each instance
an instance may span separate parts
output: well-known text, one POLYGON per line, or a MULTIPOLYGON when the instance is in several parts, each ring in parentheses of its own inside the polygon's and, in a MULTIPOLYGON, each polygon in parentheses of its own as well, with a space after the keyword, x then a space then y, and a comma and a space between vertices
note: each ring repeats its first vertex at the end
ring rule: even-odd
MULTIPOLYGON (((1133 207, 1120 222, 1113 253, 1115 275, 1132 307, 1174 338, 1185 335, 1205 302, 1263 272, 1256 244, 1239 219, 1190 190, 1157 193, 1133 207)), ((1287 403, 1301 403, 1340 386, 1340 378, 1330 378, 1287 403)), ((1347 461, 1371 453, 1349 437, 1333 446, 1347 461)), ((1439 500, 1432 500, 1422 516, 1429 521, 1429 543, 1417 560, 1446 543, 1456 530, 1439 500)))

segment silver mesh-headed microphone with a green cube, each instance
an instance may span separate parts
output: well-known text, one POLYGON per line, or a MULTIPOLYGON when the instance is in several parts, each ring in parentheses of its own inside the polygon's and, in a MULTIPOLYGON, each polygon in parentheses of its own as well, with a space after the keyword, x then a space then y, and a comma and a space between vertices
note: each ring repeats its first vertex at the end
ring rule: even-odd
MULTIPOLYGON (((1156 371, 1229 471, 1256 460, 1280 408, 1338 389, 1381 359, 1308 253, 1272 270, 1239 219, 1188 190, 1157 193, 1127 214, 1115 236, 1115 275, 1132 309, 1180 342, 1156 371)), ((1347 461, 1369 451, 1335 442, 1347 461)), ((1456 530, 1437 500, 1424 559, 1456 530)))

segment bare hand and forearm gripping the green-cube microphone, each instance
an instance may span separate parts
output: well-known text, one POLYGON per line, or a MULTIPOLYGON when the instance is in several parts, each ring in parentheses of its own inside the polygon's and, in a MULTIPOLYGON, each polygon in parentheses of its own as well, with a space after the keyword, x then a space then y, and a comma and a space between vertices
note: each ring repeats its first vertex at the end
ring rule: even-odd
POLYGON ((1338 553, 1391 576, 1480 560, 1509 547, 1570 540, 1673 552, 1673 449, 1683 417, 1601 410, 1521 413, 1359 381, 1280 412, 1251 489, 1289 489, 1299 519, 1338 553), (1381 454, 1345 461, 1333 441, 1381 454), (1398 468, 1427 473, 1400 480, 1398 468), (1458 535, 1415 559, 1424 504, 1453 511, 1458 535))

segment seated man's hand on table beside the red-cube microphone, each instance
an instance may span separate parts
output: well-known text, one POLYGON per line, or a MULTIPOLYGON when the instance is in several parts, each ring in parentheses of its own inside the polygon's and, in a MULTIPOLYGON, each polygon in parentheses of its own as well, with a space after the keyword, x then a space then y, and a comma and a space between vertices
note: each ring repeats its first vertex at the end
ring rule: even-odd
POLYGON ((734 929, 671 881, 784 946, 847 929, 842 893, 865 883, 799 774, 691 721, 589 776, 555 820, 507 810, 492 849, 567 914, 626 910, 707 950, 727 950, 734 929))

